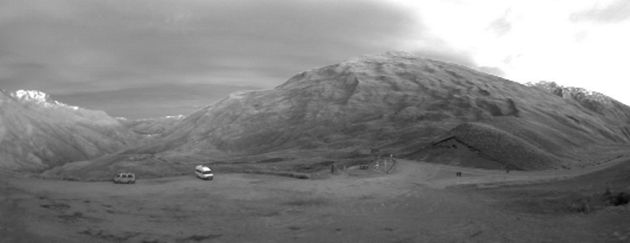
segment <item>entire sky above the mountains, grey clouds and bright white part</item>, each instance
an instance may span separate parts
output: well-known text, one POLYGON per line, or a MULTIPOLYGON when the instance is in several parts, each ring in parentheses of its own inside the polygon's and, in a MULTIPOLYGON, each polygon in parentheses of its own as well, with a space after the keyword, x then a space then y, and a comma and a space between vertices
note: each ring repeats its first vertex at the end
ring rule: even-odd
POLYGON ((0 0, 0 89, 157 118, 402 50, 630 104, 628 43, 628 0, 0 0))

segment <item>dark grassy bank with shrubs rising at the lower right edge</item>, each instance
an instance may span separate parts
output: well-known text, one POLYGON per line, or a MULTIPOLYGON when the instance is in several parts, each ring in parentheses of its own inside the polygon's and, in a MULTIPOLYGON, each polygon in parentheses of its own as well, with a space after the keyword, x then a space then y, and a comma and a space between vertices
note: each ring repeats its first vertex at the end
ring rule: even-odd
POLYGON ((480 189, 507 207, 531 214, 591 214, 630 210, 630 160, 562 181, 480 189))

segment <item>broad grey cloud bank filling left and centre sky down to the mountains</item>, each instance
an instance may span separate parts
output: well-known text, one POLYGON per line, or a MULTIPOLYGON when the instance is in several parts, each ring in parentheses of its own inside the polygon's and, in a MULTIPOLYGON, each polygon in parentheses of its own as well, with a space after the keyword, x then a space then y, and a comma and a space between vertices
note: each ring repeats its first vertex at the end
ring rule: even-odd
MULTIPOLYGON (((501 74, 429 33, 418 14, 361 0, 0 0, 0 88, 154 117, 388 50, 501 74), (207 92, 185 95, 195 90, 207 92)), ((507 19, 495 22, 509 31, 507 19)))

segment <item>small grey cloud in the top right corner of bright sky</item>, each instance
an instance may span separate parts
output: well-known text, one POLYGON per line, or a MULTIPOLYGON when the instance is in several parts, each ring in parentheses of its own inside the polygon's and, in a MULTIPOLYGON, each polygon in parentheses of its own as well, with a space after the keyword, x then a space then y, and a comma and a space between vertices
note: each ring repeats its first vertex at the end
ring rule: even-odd
POLYGON ((591 21, 598 23, 617 23, 630 18, 630 1, 617 0, 608 6, 599 4, 590 9, 579 11, 570 15, 572 22, 591 21))

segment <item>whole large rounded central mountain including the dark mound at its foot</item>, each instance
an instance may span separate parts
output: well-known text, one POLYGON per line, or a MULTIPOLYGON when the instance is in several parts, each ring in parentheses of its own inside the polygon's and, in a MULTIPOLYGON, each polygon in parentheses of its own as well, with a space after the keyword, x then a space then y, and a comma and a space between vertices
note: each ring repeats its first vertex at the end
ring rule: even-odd
POLYGON ((603 160, 630 140, 628 106, 542 86, 407 53, 368 55, 304 71, 274 89, 232 94, 121 153, 134 159, 94 165, 142 165, 138 155, 155 164, 156 156, 186 162, 187 155, 229 161, 279 151, 330 158, 386 151, 473 167, 552 169, 603 160))

